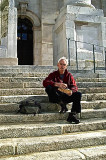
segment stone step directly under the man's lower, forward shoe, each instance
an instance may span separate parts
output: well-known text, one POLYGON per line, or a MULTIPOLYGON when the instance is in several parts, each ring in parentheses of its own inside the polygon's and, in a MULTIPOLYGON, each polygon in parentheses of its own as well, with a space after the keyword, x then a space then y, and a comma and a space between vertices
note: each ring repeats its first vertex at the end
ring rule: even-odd
POLYGON ((40 137, 62 135, 66 133, 85 132, 106 129, 106 118, 81 120, 81 123, 69 124, 65 120, 41 123, 17 123, 0 125, 0 139, 19 137, 40 137))

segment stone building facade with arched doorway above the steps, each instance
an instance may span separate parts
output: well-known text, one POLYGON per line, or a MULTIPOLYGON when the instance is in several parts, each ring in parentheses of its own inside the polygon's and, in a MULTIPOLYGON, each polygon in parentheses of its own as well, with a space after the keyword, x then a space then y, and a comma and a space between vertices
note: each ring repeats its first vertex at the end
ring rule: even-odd
POLYGON ((103 64, 105 0, 0 0, 0 65, 103 64))

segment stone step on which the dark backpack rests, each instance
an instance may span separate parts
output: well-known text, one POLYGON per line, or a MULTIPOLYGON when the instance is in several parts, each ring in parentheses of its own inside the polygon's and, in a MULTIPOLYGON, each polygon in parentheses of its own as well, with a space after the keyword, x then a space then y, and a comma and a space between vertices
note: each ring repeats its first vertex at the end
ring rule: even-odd
MULTIPOLYGON (((68 111, 70 112, 70 110, 68 111)), ((0 113, 0 124, 22 123, 22 122, 50 122, 56 120, 66 120, 69 113, 60 114, 57 112, 42 112, 41 114, 20 114, 20 113, 0 113)), ((104 118, 106 108, 102 109, 83 109, 81 119, 104 118)))

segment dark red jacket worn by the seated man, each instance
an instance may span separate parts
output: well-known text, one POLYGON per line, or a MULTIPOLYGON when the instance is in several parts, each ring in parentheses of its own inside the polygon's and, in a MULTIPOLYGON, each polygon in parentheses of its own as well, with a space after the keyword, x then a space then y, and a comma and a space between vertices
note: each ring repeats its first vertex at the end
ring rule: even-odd
POLYGON ((68 88, 71 89, 73 93, 78 91, 75 79, 72 74, 67 71, 67 69, 65 70, 63 80, 60 79, 60 73, 59 70, 57 70, 50 73, 48 77, 45 78, 45 80, 43 81, 43 86, 45 88, 48 85, 54 86, 55 82, 66 83, 68 85, 68 88))

